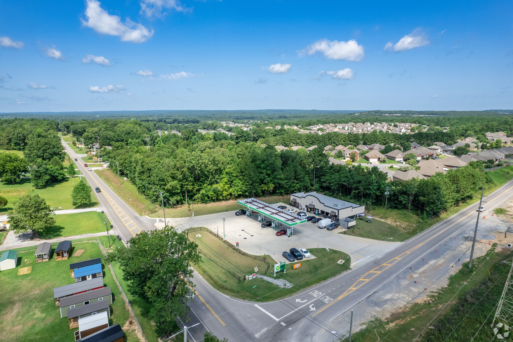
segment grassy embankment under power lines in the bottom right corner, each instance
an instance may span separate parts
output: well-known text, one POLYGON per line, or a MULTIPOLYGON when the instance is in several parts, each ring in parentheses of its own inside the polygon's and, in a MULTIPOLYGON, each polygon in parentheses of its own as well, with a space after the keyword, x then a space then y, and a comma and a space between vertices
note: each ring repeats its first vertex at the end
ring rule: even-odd
POLYGON ((376 318, 366 322, 364 329, 353 334, 353 341, 412 341, 421 334, 417 341, 468 342, 476 333, 475 341, 490 341, 494 336, 490 324, 510 269, 501 260, 513 256, 510 250, 497 252, 495 247, 475 259, 472 270, 464 263, 449 277, 447 287, 425 292, 425 298, 383 321, 376 318))

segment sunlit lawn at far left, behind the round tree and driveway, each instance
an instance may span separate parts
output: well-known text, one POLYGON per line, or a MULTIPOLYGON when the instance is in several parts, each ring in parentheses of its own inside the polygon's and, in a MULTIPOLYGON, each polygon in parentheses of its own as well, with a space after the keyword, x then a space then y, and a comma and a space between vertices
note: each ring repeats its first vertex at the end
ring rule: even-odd
MULTIPOLYGON (((12 209, 12 205, 16 202, 19 197, 27 194, 38 194, 46 200, 46 203, 51 208, 62 207, 63 209, 73 209, 74 206, 71 204, 71 191, 73 187, 80 182, 80 177, 67 178, 61 183, 53 183, 43 189, 34 189, 29 179, 23 179, 19 183, 9 184, 0 183, 0 196, 4 196, 9 201, 7 206, 0 209, 0 213, 7 212, 12 209)), ((91 190, 91 198, 93 203, 91 207, 98 206, 96 197, 91 190)))

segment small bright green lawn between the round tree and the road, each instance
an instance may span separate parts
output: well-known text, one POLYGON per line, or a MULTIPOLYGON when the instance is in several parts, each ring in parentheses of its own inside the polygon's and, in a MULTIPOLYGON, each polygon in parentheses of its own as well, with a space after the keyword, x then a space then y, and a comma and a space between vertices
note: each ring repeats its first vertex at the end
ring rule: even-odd
MULTIPOLYGON (((87 233, 105 232, 105 221, 102 213, 86 212, 75 214, 59 214, 52 216, 55 225, 45 234, 40 234, 42 239, 53 239, 61 236, 73 236, 87 233)), ((110 221, 107 219, 107 227, 110 230, 110 221)))

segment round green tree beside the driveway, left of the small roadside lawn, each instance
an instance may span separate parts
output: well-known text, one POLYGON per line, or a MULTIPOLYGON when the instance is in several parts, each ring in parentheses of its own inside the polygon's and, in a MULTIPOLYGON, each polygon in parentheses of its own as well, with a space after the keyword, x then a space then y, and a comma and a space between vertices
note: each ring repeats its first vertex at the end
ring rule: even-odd
POLYGON ((55 219, 51 217, 53 211, 45 199, 37 194, 20 197, 8 214, 9 230, 16 234, 32 232, 32 239, 55 224, 55 219))

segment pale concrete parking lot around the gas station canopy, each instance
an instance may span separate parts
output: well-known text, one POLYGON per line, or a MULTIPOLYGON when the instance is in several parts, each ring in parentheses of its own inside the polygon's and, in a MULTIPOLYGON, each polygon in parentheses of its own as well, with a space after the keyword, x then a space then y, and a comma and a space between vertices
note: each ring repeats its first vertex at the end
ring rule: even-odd
MULTIPOLYGON (((290 208, 290 205, 284 203, 274 203, 273 205, 285 205, 290 208)), ((267 220, 270 220, 270 218, 264 217, 264 221, 267 220)), ((235 211, 231 211, 203 216, 168 218, 167 222, 179 231, 189 227, 207 227, 213 232, 219 231, 219 235, 223 236, 225 234, 225 238, 229 242, 233 244, 239 242, 239 248, 246 253, 271 255, 274 260, 285 262, 288 261, 282 256, 282 253, 284 251, 288 252, 293 247, 297 249, 306 248, 307 250, 309 248, 328 248, 350 255, 351 267, 354 267, 354 265, 372 261, 402 243, 338 234, 341 232, 341 228, 328 231, 319 229, 317 223, 311 222, 293 226, 292 236, 276 236, 277 231, 286 227, 279 226, 278 229, 262 228, 262 222, 258 222, 258 213, 252 216, 235 216, 235 211), (224 233, 223 217, 226 218, 224 233)), ((163 227, 162 219, 159 223, 155 223, 155 226, 163 227)))

